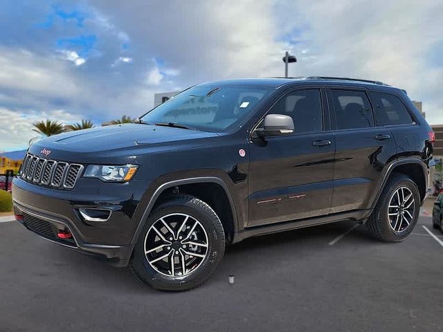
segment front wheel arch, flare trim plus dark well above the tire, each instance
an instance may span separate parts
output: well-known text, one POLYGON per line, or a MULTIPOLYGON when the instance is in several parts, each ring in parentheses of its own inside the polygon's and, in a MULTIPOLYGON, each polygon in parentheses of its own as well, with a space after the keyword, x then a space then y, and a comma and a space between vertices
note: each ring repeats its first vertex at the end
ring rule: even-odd
MULTIPOLYGON (((216 213, 218 212, 217 215, 225 228, 225 234, 227 235, 228 241, 233 241, 234 236, 237 233, 237 213, 235 210, 233 197, 228 189, 228 185, 226 185, 221 178, 216 176, 199 176, 168 181, 156 187, 154 194, 152 194, 150 200, 145 205, 141 220, 139 221, 136 231, 134 232, 131 243, 136 243, 138 241, 138 237, 141 234, 143 225, 145 225, 147 218, 150 216, 156 205, 161 203, 161 200, 165 199, 170 194, 174 194, 174 190, 176 190, 176 188, 178 188, 179 192, 181 193, 192 194, 202 201, 205 201, 210 205, 211 208, 213 208, 213 210, 215 210, 216 213), (219 188, 218 193, 223 193, 224 198, 221 199, 221 201, 209 199, 210 194, 201 191, 201 189, 208 185, 217 186, 213 188, 219 188), (220 202, 222 203, 221 205, 219 205, 220 202), (228 204, 230 214, 224 210, 224 208, 226 208, 226 205, 224 205, 225 203, 228 204)), ((216 192, 213 193, 217 194, 216 192)))

